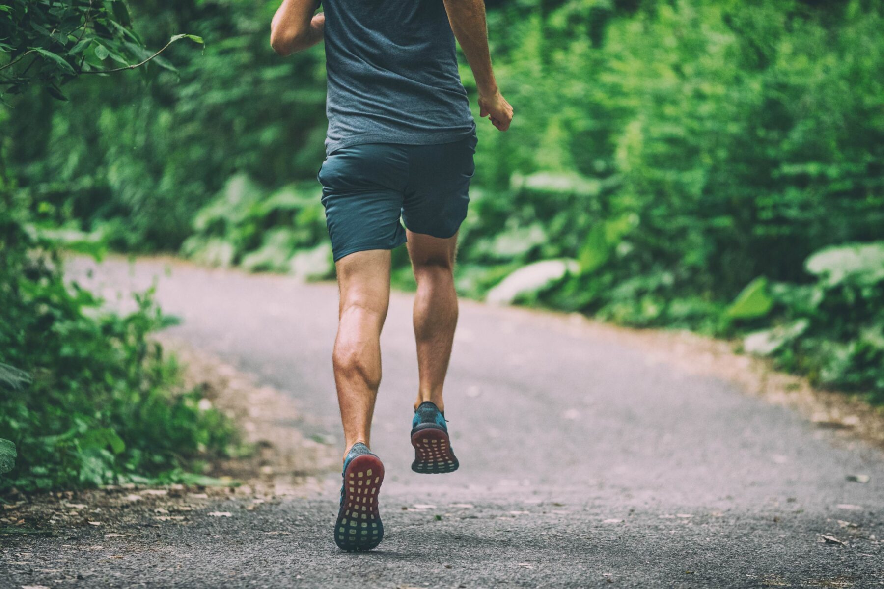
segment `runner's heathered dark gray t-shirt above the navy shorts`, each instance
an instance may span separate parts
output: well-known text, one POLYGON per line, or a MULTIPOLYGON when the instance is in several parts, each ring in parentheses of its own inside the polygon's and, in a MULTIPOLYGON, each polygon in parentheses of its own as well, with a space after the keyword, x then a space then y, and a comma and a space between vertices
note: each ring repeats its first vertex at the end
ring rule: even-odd
POLYGON ((322 0, 325 153, 430 145, 476 132, 442 0, 322 0))

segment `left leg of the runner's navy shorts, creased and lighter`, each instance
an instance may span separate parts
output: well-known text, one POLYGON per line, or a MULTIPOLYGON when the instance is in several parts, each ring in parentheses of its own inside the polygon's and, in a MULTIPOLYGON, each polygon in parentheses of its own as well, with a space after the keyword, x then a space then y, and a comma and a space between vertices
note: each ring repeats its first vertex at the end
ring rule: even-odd
POLYGON ((325 223, 336 262, 350 253, 405 243, 400 214, 406 158, 402 146, 388 143, 344 147, 325 158, 316 177, 323 185, 325 223))

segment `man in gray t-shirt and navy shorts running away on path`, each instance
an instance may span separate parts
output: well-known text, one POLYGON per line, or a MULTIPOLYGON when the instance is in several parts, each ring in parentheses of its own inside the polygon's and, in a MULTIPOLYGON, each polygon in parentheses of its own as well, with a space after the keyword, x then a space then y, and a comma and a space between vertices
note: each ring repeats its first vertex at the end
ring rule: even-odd
POLYGON ((283 0, 271 25, 271 46, 283 56, 325 42, 329 125, 317 178, 340 292, 332 363, 346 451, 334 539, 344 550, 370 550, 384 537, 377 510, 384 465, 369 449, 370 429, 390 250, 406 242, 417 282, 420 375, 411 468, 458 467, 442 386, 457 324, 452 271, 476 124, 454 37, 476 78, 481 117, 507 131, 513 109, 494 79, 484 0, 283 0), (314 14, 319 4, 324 12, 314 14))

